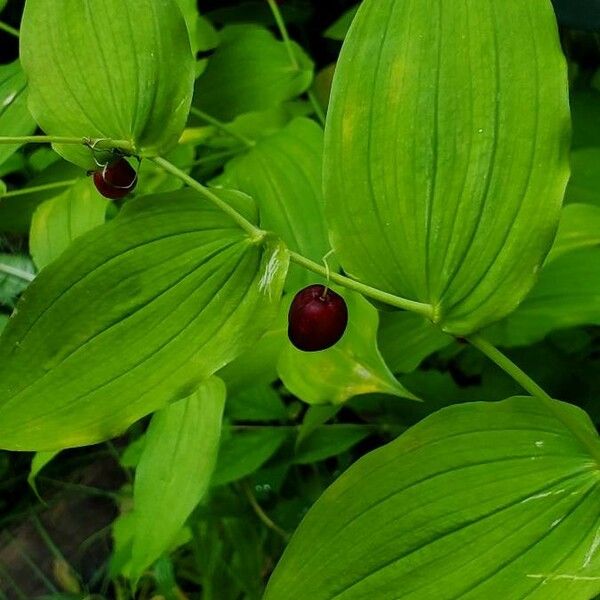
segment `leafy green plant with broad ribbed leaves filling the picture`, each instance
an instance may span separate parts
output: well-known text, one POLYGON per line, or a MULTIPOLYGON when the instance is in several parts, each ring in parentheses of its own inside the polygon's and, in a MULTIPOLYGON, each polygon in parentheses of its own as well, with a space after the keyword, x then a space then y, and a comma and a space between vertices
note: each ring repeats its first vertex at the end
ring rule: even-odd
MULTIPOLYGON (((121 597, 590 600, 597 409, 496 347, 600 324, 598 207, 578 192, 597 198, 595 174, 575 170, 563 208, 551 3, 364 0, 328 30, 345 38, 330 100, 275 0, 250 5, 282 41, 244 18, 217 34, 185 0, 26 1, 7 81, 31 116, 5 103, 0 160, 53 151, 47 178, 1 198, 39 272, 0 260, 3 304, 19 298, 0 322, 0 447, 37 452, 33 481, 126 434, 121 597), (107 209, 87 170, 134 197, 107 209), (331 309, 325 333, 300 327, 306 294, 319 326, 331 309), (389 443, 350 452, 374 434, 389 443), (276 520, 256 497, 273 490, 276 520)), ((587 164, 600 135, 578 150, 577 131, 587 164)), ((597 332, 570 333, 558 370, 597 367, 597 332)))

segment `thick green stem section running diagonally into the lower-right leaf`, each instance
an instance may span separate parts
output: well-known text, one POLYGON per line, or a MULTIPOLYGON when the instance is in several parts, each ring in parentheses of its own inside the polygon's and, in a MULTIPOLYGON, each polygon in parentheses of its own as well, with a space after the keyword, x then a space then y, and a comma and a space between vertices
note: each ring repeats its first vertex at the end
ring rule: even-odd
POLYGON ((518 367, 508 356, 500 352, 493 344, 480 335, 467 338, 469 343, 485 354, 498 365, 507 375, 512 377, 525 391, 537 398, 542 404, 579 440, 589 453, 600 463, 600 445, 596 440, 590 440, 582 431, 581 424, 571 414, 560 410, 556 400, 553 400, 525 371, 518 367))

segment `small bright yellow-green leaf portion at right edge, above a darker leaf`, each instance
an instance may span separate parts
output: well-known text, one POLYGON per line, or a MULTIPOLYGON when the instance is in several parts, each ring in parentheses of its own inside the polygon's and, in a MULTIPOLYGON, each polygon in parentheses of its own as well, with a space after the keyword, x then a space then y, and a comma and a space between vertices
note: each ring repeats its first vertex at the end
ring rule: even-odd
POLYGON ((600 245, 600 204, 568 204, 563 208, 558 233, 546 263, 589 246, 600 245))

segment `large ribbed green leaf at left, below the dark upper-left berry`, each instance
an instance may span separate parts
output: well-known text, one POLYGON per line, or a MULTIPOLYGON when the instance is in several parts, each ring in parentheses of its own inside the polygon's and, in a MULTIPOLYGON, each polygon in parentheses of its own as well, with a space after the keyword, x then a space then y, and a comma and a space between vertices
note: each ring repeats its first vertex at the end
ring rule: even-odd
POLYGON ((194 192, 128 203, 40 273, 4 330, 0 447, 91 444, 185 398, 268 328, 286 268, 281 243, 194 192))

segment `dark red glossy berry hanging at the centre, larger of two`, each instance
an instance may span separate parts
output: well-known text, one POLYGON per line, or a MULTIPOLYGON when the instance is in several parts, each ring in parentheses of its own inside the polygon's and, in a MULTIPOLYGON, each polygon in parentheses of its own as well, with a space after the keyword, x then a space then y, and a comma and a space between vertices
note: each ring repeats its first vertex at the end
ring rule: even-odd
POLYGON ((296 348, 317 352, 339 342, 348 324, 345 300, 323 285, 300 290, 290 306, 288 337, 296 348))

